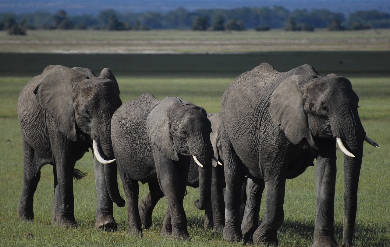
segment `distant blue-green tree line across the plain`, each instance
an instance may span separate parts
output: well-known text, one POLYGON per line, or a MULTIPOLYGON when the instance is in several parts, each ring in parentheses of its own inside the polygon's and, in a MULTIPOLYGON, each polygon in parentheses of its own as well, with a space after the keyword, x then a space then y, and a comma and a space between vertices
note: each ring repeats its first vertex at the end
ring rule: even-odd
POLYGON ((237 30, 255 28, 266 31, 284 28, 291 31, 313 31, 314 28, 329 30, 390 28, 390 14, 376 10, 356 11, 347 18, 340 12, 326 9, 297 9, 289 11, 281 6, 241 7, 236 9, 199 9, 188 11, 179 7, 167 13, 120 13, 112 9, 96 16, 83 14, 69 16, 60 10, 33 12, 16 15, 0 13, 0 30, 10 34, 25 34, 28 29, 105 29, 105 30, 237 30))

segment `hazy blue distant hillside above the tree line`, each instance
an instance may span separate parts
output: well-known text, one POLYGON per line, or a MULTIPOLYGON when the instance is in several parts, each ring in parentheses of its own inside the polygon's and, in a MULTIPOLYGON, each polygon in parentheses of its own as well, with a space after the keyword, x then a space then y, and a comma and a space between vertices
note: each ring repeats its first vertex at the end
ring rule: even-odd
POLYGON ((178 7, 189 11, 196 9, 233 9, 237 7, 283 6, 289 11, 295 9, 328 9, 342 12, 346 16, 358 10, 376 9, 390 13, 389 0, 2 0, 0 12, 16 14, 35 11, 57 12, 64 9, 69 15, 97 14, 103 9, 118 12, 168 12, 178 7))

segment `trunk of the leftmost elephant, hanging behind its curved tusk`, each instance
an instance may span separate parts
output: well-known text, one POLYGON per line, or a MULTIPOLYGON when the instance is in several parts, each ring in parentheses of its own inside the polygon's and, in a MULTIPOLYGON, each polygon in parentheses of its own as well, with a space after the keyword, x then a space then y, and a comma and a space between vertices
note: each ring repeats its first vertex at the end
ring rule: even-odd
MULTIPOLYGON (((111 121, 108 122, 109 122, 108 127, 104 131, 100 132, 100 134, 95 134, 94 131, 91 132, 92 139, 95 140, 96 138, 97 148, 98 149, 101 148, 101 151, 103 151, 100 153, 100 155, 106 161, 114 160, 114 151, 112 148, 111 130, 110 130, 111 121)), ((102 125, 103 124, 97 126, 102 126, 102 125)), ((100 127, 100 129, 102 129, 102 127, 100 127)), ((119 193, 118 168, 116 162, 114 161, 108 164, 103 164, 103 168, 104 168, 106 187, 107 187, 108 194, 110 195, 110 198, 119 207, 123 207, 125 205, 125 200, 121 197, 121 194, 119 193)))

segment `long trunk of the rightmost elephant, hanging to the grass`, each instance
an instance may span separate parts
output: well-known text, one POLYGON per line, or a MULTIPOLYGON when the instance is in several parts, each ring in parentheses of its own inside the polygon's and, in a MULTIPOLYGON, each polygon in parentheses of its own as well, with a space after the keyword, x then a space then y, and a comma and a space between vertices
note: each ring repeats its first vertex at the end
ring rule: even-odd
MULTIPOLYGON (((355 157, 344 153, 344 234, 343 246, 352 246, 353 232, 355 228, 356 211, 358 203, 358 183, 360 168, 362 167, 363 142, 365 131, 358 117, 357 110, 349 116, 352 119, 349 124, 340 127, 340 139, 346 148, 355 157)), ((353 111, 352 111, 353 112, 353 111)), ((344 115, 344 119, 345 119, 344 115)), ((345 123, 345 122, 344 122, 345 123)))

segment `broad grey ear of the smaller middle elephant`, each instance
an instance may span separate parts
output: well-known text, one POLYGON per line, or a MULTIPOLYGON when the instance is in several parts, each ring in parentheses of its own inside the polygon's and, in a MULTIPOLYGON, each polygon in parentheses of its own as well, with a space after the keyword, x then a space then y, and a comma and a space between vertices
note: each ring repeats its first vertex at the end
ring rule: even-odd
POLYGON ((147 116, 147 131, 151 144, 168 159, 178 161, 176 148, 170 134, 171 114, 170 111, 179 106, 186 105, 190 102, 183 101, 177 97, 167 97, 163 99, 147 116))

